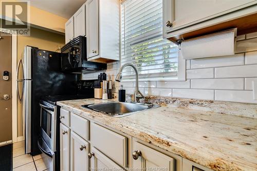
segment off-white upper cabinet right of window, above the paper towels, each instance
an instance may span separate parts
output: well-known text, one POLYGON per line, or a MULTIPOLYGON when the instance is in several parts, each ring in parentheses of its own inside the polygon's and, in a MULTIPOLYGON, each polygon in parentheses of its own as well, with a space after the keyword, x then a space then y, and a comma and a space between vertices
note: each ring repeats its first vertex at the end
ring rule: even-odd
POLYGON ((238 25, 226 23, 223 26, 205 29, 256 13, 256 4, 256 0, 163 0, 163 37, 175 36, 175 39, 183 39, 197 33, 179 35, 199 29, 204 29, 198 32, 203 34, 207 31, 216 31, 215 29, 237 27, 238 25))

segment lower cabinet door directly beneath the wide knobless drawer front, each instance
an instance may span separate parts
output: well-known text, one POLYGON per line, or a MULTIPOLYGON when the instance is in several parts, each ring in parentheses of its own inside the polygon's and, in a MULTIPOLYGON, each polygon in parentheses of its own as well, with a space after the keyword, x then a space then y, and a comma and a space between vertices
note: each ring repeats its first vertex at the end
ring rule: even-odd
POLYGON ((120 171, 124 170, 95 147, 91 148, 91 154, 93 154, 90 159, 90 168, 92 170, 108 170, 108 168, 120 171))

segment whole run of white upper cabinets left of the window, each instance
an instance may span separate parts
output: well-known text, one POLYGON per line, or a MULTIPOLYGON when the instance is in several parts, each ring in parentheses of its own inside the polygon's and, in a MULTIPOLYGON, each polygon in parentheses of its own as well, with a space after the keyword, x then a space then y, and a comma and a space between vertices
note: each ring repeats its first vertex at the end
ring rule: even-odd
POLYGON ((86 36, 87 60, 120 60, 120 1, 87 0, 65 24, 65 43, 86 36))

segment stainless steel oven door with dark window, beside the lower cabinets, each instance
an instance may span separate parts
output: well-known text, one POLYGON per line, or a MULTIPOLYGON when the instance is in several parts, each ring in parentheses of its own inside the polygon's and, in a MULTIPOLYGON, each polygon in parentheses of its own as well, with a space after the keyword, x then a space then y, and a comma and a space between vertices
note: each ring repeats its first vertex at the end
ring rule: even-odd
POLYGON ((49 149, 56 151, 56 106, 44 101, 40 102, 41 106, 41 138, 47 144, 49 149))

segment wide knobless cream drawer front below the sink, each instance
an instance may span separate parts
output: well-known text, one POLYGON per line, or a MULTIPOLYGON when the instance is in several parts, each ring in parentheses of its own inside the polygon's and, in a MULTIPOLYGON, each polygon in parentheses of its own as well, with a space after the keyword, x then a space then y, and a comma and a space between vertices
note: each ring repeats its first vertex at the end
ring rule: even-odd
POLYGON ((123 167, 127 165, 127 138, 95 123, 90 124, 91 144, 123 167))

